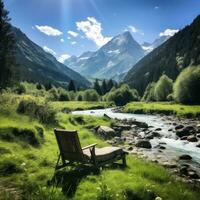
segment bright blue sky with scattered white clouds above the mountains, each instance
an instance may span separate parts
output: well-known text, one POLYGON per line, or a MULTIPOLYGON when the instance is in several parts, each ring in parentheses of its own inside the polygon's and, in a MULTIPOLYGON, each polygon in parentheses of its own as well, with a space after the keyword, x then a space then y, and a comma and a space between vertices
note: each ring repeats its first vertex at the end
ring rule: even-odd
POLYGON ((4 2, 12 24, 60 61, 94 51, 127 29, 139 43, 152 42, 161 33, 173 34, 200 14, 199 0, 4 2))

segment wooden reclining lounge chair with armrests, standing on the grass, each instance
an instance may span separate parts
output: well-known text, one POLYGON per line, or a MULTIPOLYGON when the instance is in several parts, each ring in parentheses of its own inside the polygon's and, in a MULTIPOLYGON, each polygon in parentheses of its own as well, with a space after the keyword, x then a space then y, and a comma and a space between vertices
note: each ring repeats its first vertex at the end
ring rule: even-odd
POLYGON ((97 144, 81 148, 77 131, 55 129, 54 133, 60 150, 56 170, 73 163, 90 164, 99 168, 120 159, 122 159, 123 166, 126 166, 126 153, 121 148, 96 148, 97 144), (60 159, 62 160, 61 165, 59 165, 60 159))

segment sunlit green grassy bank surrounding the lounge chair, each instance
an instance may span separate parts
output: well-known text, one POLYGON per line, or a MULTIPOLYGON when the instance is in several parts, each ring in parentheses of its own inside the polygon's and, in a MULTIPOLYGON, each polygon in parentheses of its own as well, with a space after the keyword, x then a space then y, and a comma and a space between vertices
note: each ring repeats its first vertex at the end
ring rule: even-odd
MULTIPOLYGON (((15 98, 20 101, 24 97, 15 98)), ((47 182, 54 174, 58 152, 53 128, 76 129, 82 146, 98 143, 98 147, 102 147, 107 145, 106 142, 94 135, 90 129, 96 125, 110 125, 111 121, 106 118, 64 114, 59 111, 63 108, 63 102, 56 102, 52 103, 51 107, 56 109, 57 124, 46 125, 34 117, 17 113, 16 101, 4 98, 1 102, 3 103, 0 104, 0 199, 14 199, 21 195, 25 196, 25 199, 70 199, 63 194, 61 188, 68 186, 69 183, 58 188, 47 186, 47 182), (27 134, 32 134, 30 137, 20 138, 18 134, 13 134, 13 129, 21 131, 20 133, 26 130, 27 134), (33 133, 39 142, 38 145, 31 143, 33 133)), ((64 104, 69 108, 75 107, 74 102, 64 104)), ((88 109, 94 105, 95 103, 81 102, 82 108, 88 109)), ((72 198, 153 200, 160 196, 165 200, 198 199, 197 191, 177 181, 161 166, 131 155, 128 156, 127 164, 126 169, 108 168, 99 175, 89 174, 77 180, 72 198)))

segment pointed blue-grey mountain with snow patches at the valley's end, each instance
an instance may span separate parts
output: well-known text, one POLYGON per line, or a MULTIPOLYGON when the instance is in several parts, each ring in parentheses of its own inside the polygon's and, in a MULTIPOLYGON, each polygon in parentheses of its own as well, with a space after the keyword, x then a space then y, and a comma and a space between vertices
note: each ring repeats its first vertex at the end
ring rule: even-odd
POLYGON ((110 40, 96 52, 72 57, 65 64, 87 77, 117 79, 145 55, 142 47, 126 31, 110 40))

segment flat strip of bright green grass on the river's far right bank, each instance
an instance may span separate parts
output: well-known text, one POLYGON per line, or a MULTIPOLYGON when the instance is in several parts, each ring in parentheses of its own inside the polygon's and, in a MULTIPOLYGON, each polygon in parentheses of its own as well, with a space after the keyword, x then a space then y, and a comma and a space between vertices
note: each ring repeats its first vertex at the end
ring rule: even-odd
POLYGON ((163 113, 185 117, 199 117, 200 105, 181 105, 167 102, 131 102, 124 107, 129 113, 163 113))

